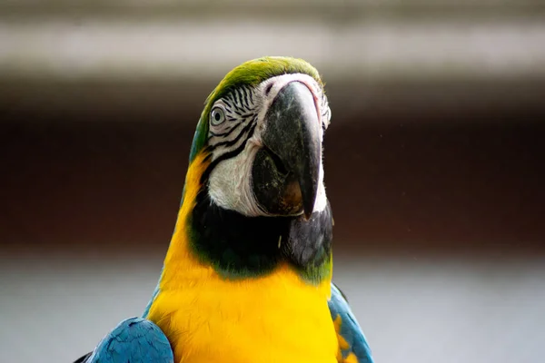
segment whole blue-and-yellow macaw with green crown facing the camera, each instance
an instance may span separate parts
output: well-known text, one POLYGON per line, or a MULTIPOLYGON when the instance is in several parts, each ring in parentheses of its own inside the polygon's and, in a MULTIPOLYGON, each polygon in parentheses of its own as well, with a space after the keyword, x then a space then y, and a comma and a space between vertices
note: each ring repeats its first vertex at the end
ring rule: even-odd
POLYGON ((204 103, 182 202, 152 299, 77 363, 372 363, 332 282, 316 68, 267 56, 204 103))

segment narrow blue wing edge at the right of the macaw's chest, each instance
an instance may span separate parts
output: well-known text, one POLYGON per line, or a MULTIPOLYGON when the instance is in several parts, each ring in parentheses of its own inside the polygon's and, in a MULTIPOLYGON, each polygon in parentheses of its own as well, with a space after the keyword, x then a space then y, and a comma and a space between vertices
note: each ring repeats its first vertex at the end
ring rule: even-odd
POLYGON ((328 301, 333 321, 341 319, 339 334, 348 343, 348 348, 342 349, 342 358, 346 358, 351 352, 358 358, 359 363, 372 363, 371 348, 363 334, 360 324, 352 314, 352 309, 342 292, 332 283, 332 298, 328 301))

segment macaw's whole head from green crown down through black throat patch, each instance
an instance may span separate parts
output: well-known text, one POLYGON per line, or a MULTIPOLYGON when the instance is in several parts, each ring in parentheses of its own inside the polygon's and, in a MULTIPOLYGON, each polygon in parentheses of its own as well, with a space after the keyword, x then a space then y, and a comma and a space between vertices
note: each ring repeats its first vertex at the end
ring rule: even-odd
POLYGON ((330 119, 320 75, 300 59, 260 58, 223 78, 197 125, 177 224, 202 261, 230 276, 282 261, 309 280, 330 273, 330 119))

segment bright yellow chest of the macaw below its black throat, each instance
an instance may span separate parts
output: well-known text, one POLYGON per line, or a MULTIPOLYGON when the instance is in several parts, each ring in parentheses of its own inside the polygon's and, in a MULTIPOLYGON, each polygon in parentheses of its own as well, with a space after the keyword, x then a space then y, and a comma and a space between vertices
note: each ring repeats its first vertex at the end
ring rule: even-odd
POLYGON ((175 362, 336 362, 324 286, 305 284, 287 267, 240 281, 209 273, 209 279, 186 276, 177 287, 164 287, 150 310, 175 362))

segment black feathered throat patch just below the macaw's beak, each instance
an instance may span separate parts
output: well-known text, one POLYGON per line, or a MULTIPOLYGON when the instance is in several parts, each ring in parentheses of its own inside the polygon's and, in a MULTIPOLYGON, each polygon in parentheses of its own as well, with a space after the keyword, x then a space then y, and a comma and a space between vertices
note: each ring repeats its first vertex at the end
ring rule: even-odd
POLYGON ((216 205, 204 188, 189 222, 193 250, 226 279, 263 276, 286 261, 305 279, 320 281, 322 271, 316 268, 331 256, 329 203, 309 221, 302 216, 246 217, 216 205))

